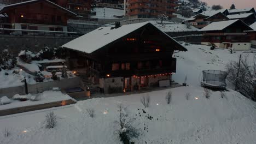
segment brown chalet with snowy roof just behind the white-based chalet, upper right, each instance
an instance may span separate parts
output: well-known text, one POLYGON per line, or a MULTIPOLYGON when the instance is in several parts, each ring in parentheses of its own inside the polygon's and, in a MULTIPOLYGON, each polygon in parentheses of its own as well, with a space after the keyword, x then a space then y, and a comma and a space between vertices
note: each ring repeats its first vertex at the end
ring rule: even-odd
POLYGON ((229 20, 229 18, 226 16, 228 14, 228 10, 203 11, 202 13, 197 14, 185 21, 191 23, 192 26, 201 29, 212 22, 229 20))

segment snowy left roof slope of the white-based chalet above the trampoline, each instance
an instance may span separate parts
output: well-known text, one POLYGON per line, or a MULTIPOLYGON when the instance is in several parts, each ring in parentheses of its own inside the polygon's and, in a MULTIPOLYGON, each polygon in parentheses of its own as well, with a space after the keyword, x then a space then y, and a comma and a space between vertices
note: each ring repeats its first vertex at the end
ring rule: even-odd
POLYGON ((224 28, 232 25, 233 23, 240 21, 240 20, 230 20, 230 21, 219 21, 219 22, 213 22, 210 25, 207 25, 206 27, 203 27, 199 31, 222 31, 224 28))

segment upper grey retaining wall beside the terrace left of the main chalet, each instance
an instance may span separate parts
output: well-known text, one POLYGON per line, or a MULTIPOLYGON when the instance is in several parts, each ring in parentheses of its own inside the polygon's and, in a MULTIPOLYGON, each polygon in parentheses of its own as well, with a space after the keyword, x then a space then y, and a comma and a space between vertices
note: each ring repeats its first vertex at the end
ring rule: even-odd
MULTIPOLYGON (((80 77, 73 77, 70 79, 62 79, 60 81, 40 82, 34 85, 28 85, 28 93, 42 93, 43 91, 53 89, 53 87, 62 89, 78 87, 80 86, 80 81, 80 77)), ((25 95, 25 86, 0 88, 0 97, 7 96, 8 98, 12 98, 15 94, 25 95)))

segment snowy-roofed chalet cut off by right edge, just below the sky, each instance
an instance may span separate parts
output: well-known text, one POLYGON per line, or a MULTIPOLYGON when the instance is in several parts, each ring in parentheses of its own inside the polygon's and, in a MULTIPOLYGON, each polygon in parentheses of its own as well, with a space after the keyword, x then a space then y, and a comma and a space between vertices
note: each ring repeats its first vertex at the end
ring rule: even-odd
POLYGON ((256 21, 256 16, 253 13, 245 13, 245 14, 236 14, 236 15, 228 15, 230 20, 242 20, 247 25, 252 25, 256 21))

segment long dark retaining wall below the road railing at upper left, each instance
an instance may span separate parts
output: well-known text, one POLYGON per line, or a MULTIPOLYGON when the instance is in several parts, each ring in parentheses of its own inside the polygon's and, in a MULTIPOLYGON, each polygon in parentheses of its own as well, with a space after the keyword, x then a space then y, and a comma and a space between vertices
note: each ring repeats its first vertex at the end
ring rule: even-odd
POLYGON ((38 52, 42 47, 59 47, 77 37, 44 37, 29 35, 1 35, 0 51, 9 49, 15 54, 21 50, 30 49, 32 52, 38 52))

